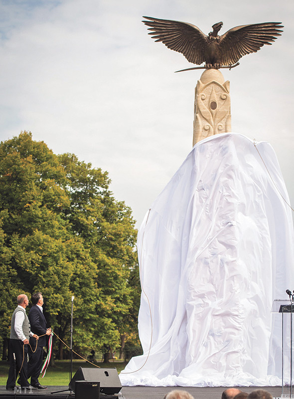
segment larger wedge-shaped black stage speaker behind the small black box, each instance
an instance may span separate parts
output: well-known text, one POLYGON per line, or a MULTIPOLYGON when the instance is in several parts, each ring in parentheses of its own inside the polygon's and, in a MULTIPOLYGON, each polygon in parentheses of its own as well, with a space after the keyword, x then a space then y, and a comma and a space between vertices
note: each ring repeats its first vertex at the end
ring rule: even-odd
POLYGON ((69 388, 75 392, 77 380, 97 381, 100 383, 100 393, 105 395, 118 394, 122 389, 117 369, 86 369, 79 367, 69 383, 69 388))

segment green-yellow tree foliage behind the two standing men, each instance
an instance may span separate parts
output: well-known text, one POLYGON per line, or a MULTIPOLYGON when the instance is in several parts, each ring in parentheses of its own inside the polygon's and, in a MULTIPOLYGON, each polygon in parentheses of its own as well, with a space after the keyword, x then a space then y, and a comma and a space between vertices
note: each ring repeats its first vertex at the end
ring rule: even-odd
MULTIPOLYGON (((134 331, 138 287, 135 221, 109 191, 107 172, 55 155, 31 134, 0 143, 0 337, 15 298, 41 291, 50 325, 74 347, 119 347, 134 331)), ((59 353, 62 356, 63 345, 59 353)))

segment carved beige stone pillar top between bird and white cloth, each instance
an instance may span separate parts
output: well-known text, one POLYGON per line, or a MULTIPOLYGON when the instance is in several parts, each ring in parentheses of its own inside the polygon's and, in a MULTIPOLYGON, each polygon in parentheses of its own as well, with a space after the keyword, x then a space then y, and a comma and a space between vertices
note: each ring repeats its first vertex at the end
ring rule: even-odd
POLYGON ((206 69, 195 87, 193 147, 217 133, 231 132, 230 82, 219 69, 206 69))

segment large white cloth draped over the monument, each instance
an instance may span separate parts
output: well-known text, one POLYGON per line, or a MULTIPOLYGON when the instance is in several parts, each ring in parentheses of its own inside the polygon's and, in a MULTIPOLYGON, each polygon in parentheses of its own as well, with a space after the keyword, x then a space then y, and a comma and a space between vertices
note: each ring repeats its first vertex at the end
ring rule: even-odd
POLYGON ((281 194, 289 202, 269 143, 226 133, 194 146, 139 230, 144 355, 123 385, 281 384, 281 315, 271 307, 294 287, 281 194))

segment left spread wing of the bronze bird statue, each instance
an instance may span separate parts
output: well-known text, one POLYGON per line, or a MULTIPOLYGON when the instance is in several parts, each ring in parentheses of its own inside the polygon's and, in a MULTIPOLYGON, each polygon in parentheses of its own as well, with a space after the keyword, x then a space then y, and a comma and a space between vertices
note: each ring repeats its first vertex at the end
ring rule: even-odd
POLYGON ((191 23, 158 19, 149 16, 144 22, 150 26, 148 34, 155 41, 162 41, 171 50, 182 53, 189 62, 202 64, 204 62, 205 38, 207 37, 197 26, 191 23))

